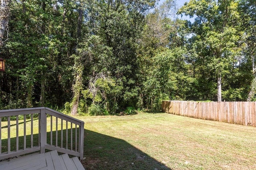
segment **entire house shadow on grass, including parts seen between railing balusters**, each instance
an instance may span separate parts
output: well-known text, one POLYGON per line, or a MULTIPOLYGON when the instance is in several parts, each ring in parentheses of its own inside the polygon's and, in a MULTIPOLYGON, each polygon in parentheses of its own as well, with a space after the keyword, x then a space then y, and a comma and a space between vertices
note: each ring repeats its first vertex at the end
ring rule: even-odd
MULTIPOLYGON (((72 131, 74 140, 75 129, 73 128, 72 131)), ((68 129, 68 148, 70 148, 70 132, 71 129, 68 129)), ((50 136, 50 132, 47 132, 47 143, 50 143, 50 136)), ((61 145, 60 137, 61 131, 58 131, 58 146, 61 145)), ((65 137, 66 130, 63 131, 64 148, 66 147, 65 137)), ((38 134, 34 134, 33 146, 38 146, 38 140, 38 134)), ((2 153, 7 151, 7 143, 7 139, 2 139, 2 153)), ((15 151, 16 137, 11 138, 10 143, 11 151, 15 151)), ((56 132, 52 133, 52 144, 56 144, 56 132)), ((21 136, 19 137, 18 148, 23 149, 23 147, 24 137, 21 136)), ((31 147, 31 135, 26 135, 26 147, 31 147)), ((86 159, 82 160, 82 164, 86 170, 170 170, 161 162, 122 139, 86 129, 84 129, 84 157, 86 159)))

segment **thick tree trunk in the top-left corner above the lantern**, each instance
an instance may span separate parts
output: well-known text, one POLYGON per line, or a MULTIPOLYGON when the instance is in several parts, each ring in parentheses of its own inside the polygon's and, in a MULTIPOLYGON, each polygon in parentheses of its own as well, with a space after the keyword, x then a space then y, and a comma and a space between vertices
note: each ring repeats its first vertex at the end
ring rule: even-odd
POLYGON ((9 8, 10 0, 1 0, 1 8, 0 8, 0 47, 3 45, 4 32, 8 25, 10 8, 9 8))

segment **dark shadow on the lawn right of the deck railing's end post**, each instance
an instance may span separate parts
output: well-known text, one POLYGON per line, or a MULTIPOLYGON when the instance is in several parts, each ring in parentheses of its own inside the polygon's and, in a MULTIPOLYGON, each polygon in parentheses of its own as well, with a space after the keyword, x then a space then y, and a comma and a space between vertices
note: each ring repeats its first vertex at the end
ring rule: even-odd
POLYGON ((84 129, 86 170, 170 170, 122 139, 84 129))

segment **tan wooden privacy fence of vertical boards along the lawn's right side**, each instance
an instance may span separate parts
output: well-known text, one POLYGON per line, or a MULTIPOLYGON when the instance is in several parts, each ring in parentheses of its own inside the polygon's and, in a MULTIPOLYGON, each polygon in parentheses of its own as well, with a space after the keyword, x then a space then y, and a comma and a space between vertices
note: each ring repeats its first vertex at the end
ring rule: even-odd
POLYGON ((162 111, 175 115, 256 127, 256 102, 162 101, 162 111))

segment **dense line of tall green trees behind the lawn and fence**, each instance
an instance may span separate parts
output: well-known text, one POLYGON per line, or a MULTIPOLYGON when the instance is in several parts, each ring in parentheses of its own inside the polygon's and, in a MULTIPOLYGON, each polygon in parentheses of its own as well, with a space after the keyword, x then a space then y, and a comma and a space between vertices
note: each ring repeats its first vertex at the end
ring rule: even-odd
POLYGON ((2 1, 1 109, 108 115, 256 100, 254 0, 2 1))

